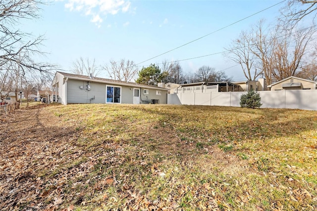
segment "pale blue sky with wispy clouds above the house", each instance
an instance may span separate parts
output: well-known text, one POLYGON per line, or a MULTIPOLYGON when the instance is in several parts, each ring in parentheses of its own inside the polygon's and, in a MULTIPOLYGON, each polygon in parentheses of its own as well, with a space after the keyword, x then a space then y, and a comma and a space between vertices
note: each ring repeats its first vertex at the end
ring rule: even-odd
MULTIPOLYGON (((41 17, 23 22, 21 30, 45 35, 42 60, 68 71, 79 57, 140 63, 261 11, 281 0, 56 0, 43 6, 41 17)), ((285 3, 285 2, 284 2, 285 3)), ((140 66, 164 59, 182 60, 217 53, 228 47, 242 30, 264 18, 279 15, 278 4, 246 20, 215 32, 140 66)), ((203 65, 223 70, 234 66, 222 54, 180 62, 184 72, 203 65)), ((140 68, 141 69, 141 68, 140 68)), ((239 66, 226 69, 234 81, 245 80, 239 66)), ((107 77, 106 73, 99 75, 107 77)))

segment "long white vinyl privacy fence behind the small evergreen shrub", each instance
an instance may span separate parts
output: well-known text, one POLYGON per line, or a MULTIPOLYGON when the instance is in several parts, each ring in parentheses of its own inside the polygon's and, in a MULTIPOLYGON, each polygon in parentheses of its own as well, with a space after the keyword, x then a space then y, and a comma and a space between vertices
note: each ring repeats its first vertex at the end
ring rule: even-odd
MULTIPOLYGON (((240 107, 245 91, 175 93, 167 95, 167 104, 240 107)), ((317 90, 259 91, 261 108, 291 108, 317 111, 317 90)))

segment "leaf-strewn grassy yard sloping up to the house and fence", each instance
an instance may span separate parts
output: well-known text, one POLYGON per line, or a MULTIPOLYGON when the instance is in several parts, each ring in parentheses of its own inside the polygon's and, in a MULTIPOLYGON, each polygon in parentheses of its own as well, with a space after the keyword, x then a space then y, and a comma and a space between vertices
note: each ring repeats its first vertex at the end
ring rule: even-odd
POLYGON ((43 104, 0 124, 0 210, 317 210, 315 111, 43 104))

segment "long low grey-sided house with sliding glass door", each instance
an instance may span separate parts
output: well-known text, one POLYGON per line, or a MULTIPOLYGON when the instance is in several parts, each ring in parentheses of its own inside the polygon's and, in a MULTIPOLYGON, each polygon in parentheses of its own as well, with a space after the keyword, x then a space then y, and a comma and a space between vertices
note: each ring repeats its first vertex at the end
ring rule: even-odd
POLYGON ((69 103, 167 103, 168 89, 111 79, 56 72, 53 95, 57 102, 69 103))

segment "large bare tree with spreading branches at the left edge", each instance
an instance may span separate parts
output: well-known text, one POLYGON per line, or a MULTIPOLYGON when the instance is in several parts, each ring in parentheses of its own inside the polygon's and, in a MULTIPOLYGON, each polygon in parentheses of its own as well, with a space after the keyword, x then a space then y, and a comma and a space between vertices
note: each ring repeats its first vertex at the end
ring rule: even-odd
POLYGON ((42 0, 0 0, 0 84, 6 84, 1 92, 14 91, 17 96, 21 89, 18 84, 26 74, 50 75, 56 69, 55 65, 34 60, 36 55, 45 54, 40 50, 43 36, 33 38, 16 29, 21 20, 37 18, 43 4, 42 0))

